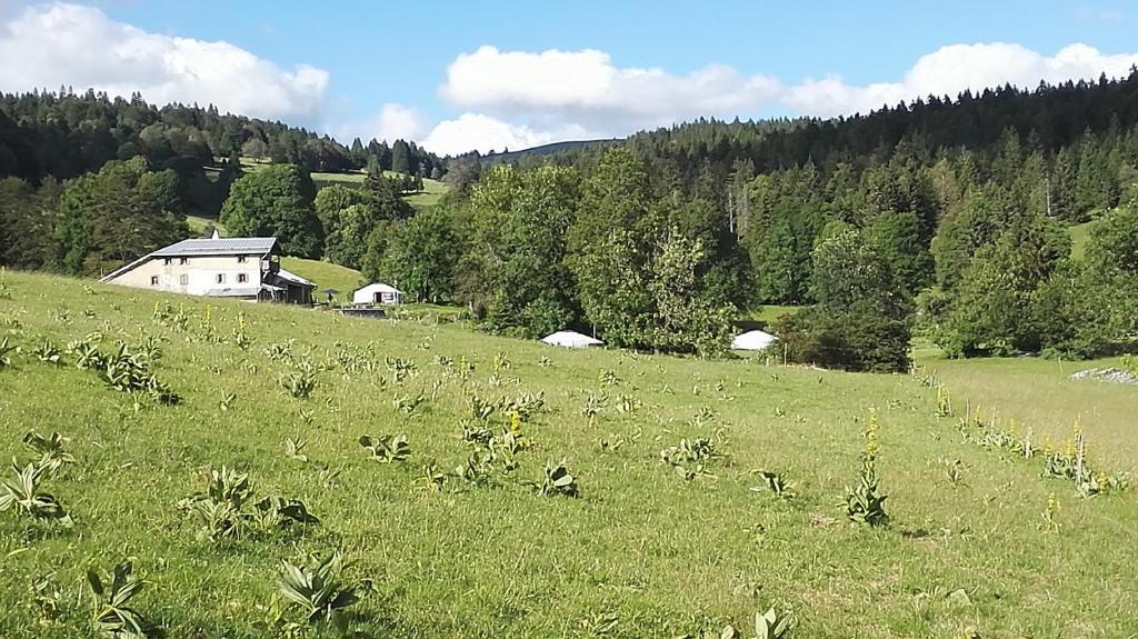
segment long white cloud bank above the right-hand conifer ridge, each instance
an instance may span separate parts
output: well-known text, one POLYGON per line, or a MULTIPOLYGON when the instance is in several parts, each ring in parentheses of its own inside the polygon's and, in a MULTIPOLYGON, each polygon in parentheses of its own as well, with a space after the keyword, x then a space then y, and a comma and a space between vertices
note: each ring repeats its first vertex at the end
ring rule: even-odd
POLYGON ((966 89, 1124 76, 1138 53, 1104 53, 1070 44, 1054 56, 1020 44, 951 44, 922 56, 890 82, 849 84, 838 75, 793 83, 710 65, 687 75, 619 67, 594 49, 541 52, 480 47, 447 68, 439 94, 468 113, 440 123, 426 146, 437 152, 487 151, 567 139, 626 135, 695 117, 765 114, 836 116, 882 106, 953 97, 966 89), (434 146, 431 146, 434 144, 434 146))

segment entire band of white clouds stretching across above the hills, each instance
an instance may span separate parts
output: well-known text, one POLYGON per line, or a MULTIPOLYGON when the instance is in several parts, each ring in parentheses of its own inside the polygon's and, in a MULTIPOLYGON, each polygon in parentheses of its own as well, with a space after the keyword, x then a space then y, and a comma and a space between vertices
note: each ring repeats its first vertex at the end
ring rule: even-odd
POLYGON ((1138 65, 1138 53, 1104 53, 1081 43, 1050 56, 1015 43, 951 44, 922 56, 899 78, 851 84, 838 75, 781 81, 726 65, 677 74, 621 67, 595 49, 486 45, 459 55, 447 67, 439 96, 461 115, 434 126, 418 109, 397 102, 384 103, 370 119, 353 119, 346 102, 328 100, 323 69, 283 68, 228 42, 149 33, 97 8, 66 2, 23 7, 0 0, 0 60, 2 91, 61 85, 115 96, 138 91, 157 103, 213 103, 254 117, 324 123, 347 140, 421 140, 436 152, 459 153, 627 135, 701 116, 826 117, 930 94, 955 97, 965 89, 1034 88, 1040 80, 1054 84, 1103 73, 1119 77, 1138 65))

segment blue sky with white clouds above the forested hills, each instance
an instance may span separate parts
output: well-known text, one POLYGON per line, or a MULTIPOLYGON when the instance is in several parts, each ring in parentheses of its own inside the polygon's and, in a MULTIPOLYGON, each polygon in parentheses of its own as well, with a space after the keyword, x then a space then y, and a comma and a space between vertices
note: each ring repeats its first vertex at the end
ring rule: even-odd
POLYGON ((213 103, 440 155, 1116 77, 1138 0, 0 0, 0 91, 213 103))

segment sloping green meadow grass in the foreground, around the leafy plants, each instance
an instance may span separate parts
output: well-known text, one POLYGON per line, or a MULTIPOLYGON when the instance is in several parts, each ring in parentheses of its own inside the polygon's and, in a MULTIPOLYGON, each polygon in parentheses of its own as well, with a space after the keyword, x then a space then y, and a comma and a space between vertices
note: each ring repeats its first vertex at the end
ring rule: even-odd
MULTIPOLYGON (((1138 632, 1133 495, 1081 499, 1070 483, 1044 479, 1038 460, 965 441, 955 420, 933 416, 931 391, 910 376, 569 351, 453 324, 46 275, 5 281, 0 331, 25 352, 0 370, 0 457, 26 457, 19 440, 35 429, 72 438, 76 458, 47 482, 74 529, 0 513, 6 638, 93 636, 80 597, 84 571, 126 557, 150 583, 132 604, 170 637, 264 637, 254 623, 279 562, 333 548, 352 558, 353 579, 371 580, 352 611, 353 628, 374 638, 577 638, 605 619, 617 620, 605 637, 678 637, 742 626, 772 605, 795 611, 799 638, 1138 632), (160 301, 191 316, 187 330, 152 318, 160 301), (250 348, 205 341, 204 316, 226 337, 239 314, 250 348), (52 366, 28 351, 92 333, 105 349, 160 340, 156 372, 182 404, 134 410, 71 357, 52 366), (319 366, 308 399, 286 395, 278 376, 289 365, 263 354, 288 340, 297 359, 319 366), (495 373, 496 354, 511 365, 495 373), (463 379, 440 356, 475 370, 463 379), (417 372, 395 381, 390 357, 417 372), (353 359, 360 368, 343 364, 353 359), (602 387, 602 371, 618 382, 602 387), (413 414, 393 405, 420 391, 428 399, 413 414), (417 488, 423 464, 450 470, 465 459, 471 396, 525 392, 544 393, 546 409, 525 420, 535 443, 512 476, 460 492, 417 488), (582 409, 601 392, 609 399, 589 420, 582 409), (222 410, 225 393, 236 399, 222 410), (620 396, 643 406, 620 412, 620 396), (706 408, 714 416, 694 420, 706 408), (848 524, 835 507, 857 479, 871 408, 882 424, 877 466, 892 517, 884 529, 848 524), (385 433, 409 437, 409 460, 365 457, 357 439, 385 433), (725 454, 709 468, 715 479, 684 481, 659 460, 662 448, 693 437, 725 454), (284 438, 307 442, 306 463, 284 456, 284 438), (622 443, 605 449, 602 440, 622 443), (567 460, 579 498, 538 497, 525 484, 549 458, 567 460), (953 486, 943 468, 956 459, 964 479, 953 486), (261 495, 303 499, 321 523, 291 539, 200 540, 175 503, 221 464, 249 472, 261 495), (752 491, 757 470, 782 472, 798 497, 752 491), (1062 506, 1058 533, 1037 525, 1050 492, 1062 506)), ((490 420, 495 430, 503 423, 490 420)), ((1092 456, 1136 437, 1118 434, 1091 438, 1092 456)))

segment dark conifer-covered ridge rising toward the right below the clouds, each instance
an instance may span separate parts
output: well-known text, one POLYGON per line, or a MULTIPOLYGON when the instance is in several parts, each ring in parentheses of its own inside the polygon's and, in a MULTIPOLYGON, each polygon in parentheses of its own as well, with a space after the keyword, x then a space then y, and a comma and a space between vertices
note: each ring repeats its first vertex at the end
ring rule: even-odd
MULTIPOLYGON (((1014 133, 1025 152, 1054 153, 1083 141, 1085 134, 1128 132, 1138 123, 1138 73, 1098 82, 1041 83, 1031 91, 1004 86, 955 99, 929 97, 883 107, 868 115, 833 119, 797 118, 721 122, 700 118, 670 128, 644 131, 626 144, 641 156, 665 159, 683 184, 700 172, 720 181, 750 163, 753 173, 813 164, 823 174, 847 163, 867 167, 889 160, 901 144, 930 160, 953 149, 993 153, 1014 133)), ((554 164, 591 166, 604 144, 576 143, 509 153, 511 160, 547 156, 554 164), (535 153, 536 151, 536 153, 535 153)))

